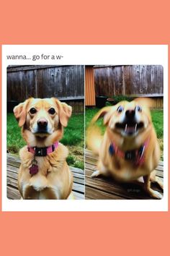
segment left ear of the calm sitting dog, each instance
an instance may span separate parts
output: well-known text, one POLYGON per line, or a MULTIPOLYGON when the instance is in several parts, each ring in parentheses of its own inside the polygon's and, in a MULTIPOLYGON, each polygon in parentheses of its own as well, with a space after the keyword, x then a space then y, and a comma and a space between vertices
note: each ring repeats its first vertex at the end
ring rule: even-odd
POLYGON ((29 103, 30 99, 27 101, 24 101, 23 103, 19 103, 19 105, 14 107, 14 116, 16 117, 19 127, 23 127, 25 121, 26 121, 26 116, 27 116, 27 105, 29 103))

